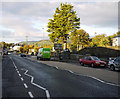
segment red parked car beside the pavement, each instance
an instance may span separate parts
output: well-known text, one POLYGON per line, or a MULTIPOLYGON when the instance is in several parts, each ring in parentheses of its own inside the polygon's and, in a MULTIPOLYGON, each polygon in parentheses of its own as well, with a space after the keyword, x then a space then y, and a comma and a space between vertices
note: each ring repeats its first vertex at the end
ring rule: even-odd
POLYGON ((98 57, 96 56, 85 56, 82 59, 79 59, 79 63, 83 66, 84 64, 90 65, 92 67, 97 67, 97 66, 106 66, 106 62, 101 61, 98 57))

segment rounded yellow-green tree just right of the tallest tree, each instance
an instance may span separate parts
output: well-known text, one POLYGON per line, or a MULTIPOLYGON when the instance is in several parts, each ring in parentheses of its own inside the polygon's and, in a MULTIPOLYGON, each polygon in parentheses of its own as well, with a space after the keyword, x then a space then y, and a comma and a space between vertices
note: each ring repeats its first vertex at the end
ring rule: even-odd
POLYGON ((79 50, 80 46, 82 48, 85 46, 88 46, 90 41, 89 34, 86 33, 86 31, 83 29, 72 32, 70 39, 71 39, 72 45, 75 45, 78 48, 77 50, 79 50))

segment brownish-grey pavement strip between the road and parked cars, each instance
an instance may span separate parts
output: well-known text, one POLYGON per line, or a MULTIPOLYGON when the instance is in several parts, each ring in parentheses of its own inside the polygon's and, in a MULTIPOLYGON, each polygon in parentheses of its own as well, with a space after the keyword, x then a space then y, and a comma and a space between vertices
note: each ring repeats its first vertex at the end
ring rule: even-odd
POLYGON ((95 69, 95 68, 78 66, 76 64, 64 63, 64 62, 58 62, 58 61, 41 61, 41 60, 37 60, 36 56, 29 57, 29 59, 47 64, 49 66, 54 66, 54 67, 57 66, 60 69, 69 70, 76 74, 81 74, 81 75, 85 75, 93 78, 95 77, 97 79, 100 79, 109 83, 120 85, 120 83, 118 83, 119 82, 118 76, 120 76, 120 72, 117 72, 117 71, 95 69))

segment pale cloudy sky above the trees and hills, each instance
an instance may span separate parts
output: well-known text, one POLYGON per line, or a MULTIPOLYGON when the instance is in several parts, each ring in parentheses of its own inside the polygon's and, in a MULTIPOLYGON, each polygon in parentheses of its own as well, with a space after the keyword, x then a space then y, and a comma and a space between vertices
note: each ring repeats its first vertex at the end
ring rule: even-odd
MULTIPOLYGON (((90 34, 112 35, 118 31, 118 2, 69 2, 80 17, 80 28, 90 34)), ((20 42, 49 39, 47 23, 60 2, 1 2, 0 41, 20 42)))

